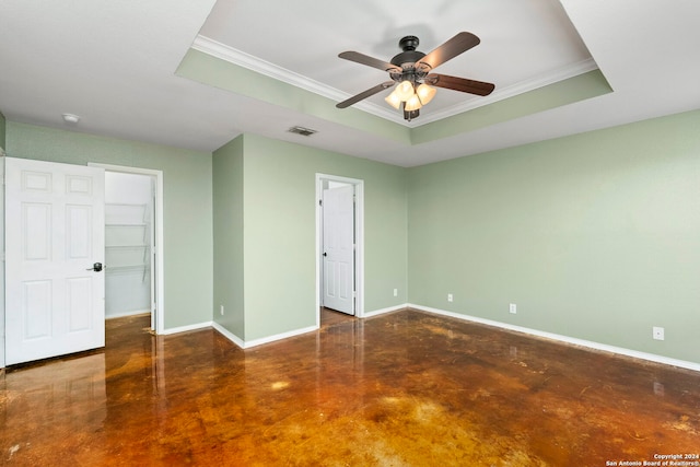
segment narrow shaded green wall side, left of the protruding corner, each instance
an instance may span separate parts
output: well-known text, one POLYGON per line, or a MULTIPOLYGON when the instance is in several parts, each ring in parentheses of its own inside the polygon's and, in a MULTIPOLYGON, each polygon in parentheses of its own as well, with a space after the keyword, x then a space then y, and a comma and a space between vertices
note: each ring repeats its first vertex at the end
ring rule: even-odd
POLYGON ((245 338, 243 187, 241 136, 213 153, 213 318, 242 340, 245 338))

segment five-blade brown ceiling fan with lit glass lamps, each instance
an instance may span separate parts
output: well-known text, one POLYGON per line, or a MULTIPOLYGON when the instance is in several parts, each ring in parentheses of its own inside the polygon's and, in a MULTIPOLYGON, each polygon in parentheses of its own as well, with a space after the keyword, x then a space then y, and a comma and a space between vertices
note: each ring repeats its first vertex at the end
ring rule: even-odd
POLYGON ((434 97, 436 90, 432 86, 481 96, 489 95, 495 89, 494 84, 431 73, 438 66, 476 47, 480 42, 481 40, 474 34, 462 32, 425 55, 422 51, 416 50, 419 44, 418 37, 406 36, 398 43, 398 46, 404 51, 396 55, 390 61, 380 60, 358 51, 343 51, 339 54, 338 57, 387 71, 392 81, 385 81, 376 86, 370 87, 360 94, 336 104, 336 107, 349 107, 352 104, 357 104, 362 100, 398 84, 385 101, 396 109, 401 109, 404 112, 404 118, 410 121, 418 117, 420 115, 420 108, 434 97))

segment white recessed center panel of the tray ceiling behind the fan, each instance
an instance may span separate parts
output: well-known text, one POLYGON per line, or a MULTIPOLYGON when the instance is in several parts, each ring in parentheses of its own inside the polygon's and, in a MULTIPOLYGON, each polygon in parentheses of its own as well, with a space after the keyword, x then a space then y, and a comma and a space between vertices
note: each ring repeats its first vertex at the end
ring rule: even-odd
MULTIPOLYGON (((200 34, 350 96, 387 74, 342 60, 339 52, 388 61, 400 52, 405 35, 418 36, 418 49, 429 52, 462 31, 476 34, 481 44, 436 71, 492 82, 497 90, 487 100, 441 89, 422 110, 422 124, 595 68, 558 0, 219 0, 200 34)), ((388 93, 368 103, 386 112, 388 93)))

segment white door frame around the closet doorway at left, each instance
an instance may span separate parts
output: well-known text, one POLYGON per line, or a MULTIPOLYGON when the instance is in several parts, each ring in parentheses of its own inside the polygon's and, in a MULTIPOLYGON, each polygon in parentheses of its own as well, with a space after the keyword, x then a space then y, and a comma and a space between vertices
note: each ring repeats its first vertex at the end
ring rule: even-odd
MULTIPOLYGON (((153 227, 155 233, 155 271, 151 268, 151 273, 155 273, 155 334, 165 332, 165 275, 164 275, 164 237, 163 237, 163 171, 141 167, 129 167, 126 165, 101 164, 89 162, 88 165, 103 167, 105 172, 117 172, 121 174, 150 175, 155 179, 155 206, 153 215, 153 227)), ((109 265, 107 265, 109 267, 109 265)))

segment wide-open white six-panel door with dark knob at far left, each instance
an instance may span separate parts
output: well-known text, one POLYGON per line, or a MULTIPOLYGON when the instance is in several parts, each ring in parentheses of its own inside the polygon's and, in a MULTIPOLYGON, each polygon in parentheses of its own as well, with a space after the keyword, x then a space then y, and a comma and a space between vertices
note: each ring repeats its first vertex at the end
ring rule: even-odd
POLYGON ((5 252, 7 364, 104 347, 103 168, 7 157, 5 252))

